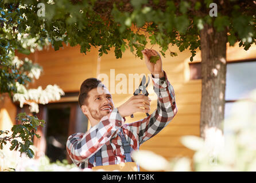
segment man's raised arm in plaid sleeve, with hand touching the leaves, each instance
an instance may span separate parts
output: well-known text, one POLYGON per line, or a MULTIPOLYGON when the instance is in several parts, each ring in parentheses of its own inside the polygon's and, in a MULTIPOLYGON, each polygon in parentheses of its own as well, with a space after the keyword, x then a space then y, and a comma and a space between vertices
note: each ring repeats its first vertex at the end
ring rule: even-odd
POLYGON ((177 113, 174 90, 165 71, 162 70, 160 55, 157 51, 148 49, 143 50, 142 53, 145 57, 146 66, 152 73, 154 92, 156 92, 158 100, 157 109, 150 116, 125 125, 128 129, 130 128, 131 132, 137 133, 139 145, 159 133, 177 113), (156 63, 151 63, 150 57, 156 55, 159 56, 159 59, 156 63))

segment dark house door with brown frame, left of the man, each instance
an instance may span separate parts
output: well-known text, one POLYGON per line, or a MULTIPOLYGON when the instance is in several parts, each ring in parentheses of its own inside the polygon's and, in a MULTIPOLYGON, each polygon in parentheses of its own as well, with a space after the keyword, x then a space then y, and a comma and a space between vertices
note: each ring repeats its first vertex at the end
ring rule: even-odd
POLYGON ((67 139, 73 133, 86 133, 88 120, 77 102, 48 104, 46 110, 45 154, 51 162, 64 159, 71 162, 66 150, 67 139))

